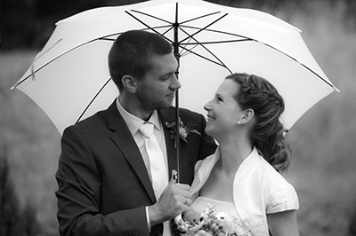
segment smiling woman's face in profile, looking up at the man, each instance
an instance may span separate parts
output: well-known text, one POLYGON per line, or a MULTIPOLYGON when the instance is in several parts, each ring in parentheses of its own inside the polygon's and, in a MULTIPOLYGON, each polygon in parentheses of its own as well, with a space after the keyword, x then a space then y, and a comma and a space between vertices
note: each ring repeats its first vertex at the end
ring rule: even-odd
POLYGON ((238 102, 234 98, 239 85, 231 79, 226 79, 216 90, 214 98, 206 103, 207 111, 206 133, 214 138, 228 135, 239 125, 243 116, 238 102))

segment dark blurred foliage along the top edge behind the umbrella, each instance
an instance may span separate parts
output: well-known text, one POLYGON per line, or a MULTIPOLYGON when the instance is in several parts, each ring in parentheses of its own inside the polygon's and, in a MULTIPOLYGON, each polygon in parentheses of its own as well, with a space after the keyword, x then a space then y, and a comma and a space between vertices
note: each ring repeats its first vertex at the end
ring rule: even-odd
MULTIPOLYGON (((333 7, 336 0, 324 0, 333 7)), ((0 50, 15 48, 40 49, 50 37, 55 27, 55 22, 78 12, 83 12, 95 7, 134 4, 140 0, 1 0, 0 1, 0 50)), ((231 5, 236 7, 249 7, 265 10, 266 12, 286 9, 309 9, 309 0, 209 0, 216 4, 231 5)), ((340 1, 338 1, 340 2, 340 1)), ((354 17, 356 1, 343 0, 348 5, 348 16, 354 17)))

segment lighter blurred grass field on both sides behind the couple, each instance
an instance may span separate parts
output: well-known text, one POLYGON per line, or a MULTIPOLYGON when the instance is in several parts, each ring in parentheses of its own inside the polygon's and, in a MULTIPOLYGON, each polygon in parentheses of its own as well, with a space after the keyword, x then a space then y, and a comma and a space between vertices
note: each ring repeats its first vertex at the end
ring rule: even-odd
MULTIPOLYGON (((322 7, 317 15, 276 13, 303 30, 303 39, 320 67, 341 90, 312 107, 289 132, 294 159, 287 179, 299 195, 301 235, 352 235, 350 220, 356 214, 356 26, 343 20, 342 5, 322 7)), ((44 235, 57 235, 54 174, 61 137, 32 100, 19 90, 9 90, 35 54, 0 54, 0 148, 7 148, 20 202, 36 206, 44 235)))

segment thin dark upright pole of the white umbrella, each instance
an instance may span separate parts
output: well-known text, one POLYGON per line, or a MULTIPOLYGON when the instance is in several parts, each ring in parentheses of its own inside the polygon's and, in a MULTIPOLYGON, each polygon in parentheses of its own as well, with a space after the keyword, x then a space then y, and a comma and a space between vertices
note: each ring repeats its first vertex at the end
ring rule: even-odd
MULTIPOLYGON (((180 67, 180 57, 179 54, 179 42, 178 42, 178 3, 175 4, 175 23, 174 23, 174 57, 177 59, 178 68, 175 71, 175 76, 179 79, 179 67, 180 67)), ((177 160, 177 183, 181 183, 181 158, 180 158, 180 140, 179 140, 179 92, 175 91, 175 151, 177 160)))

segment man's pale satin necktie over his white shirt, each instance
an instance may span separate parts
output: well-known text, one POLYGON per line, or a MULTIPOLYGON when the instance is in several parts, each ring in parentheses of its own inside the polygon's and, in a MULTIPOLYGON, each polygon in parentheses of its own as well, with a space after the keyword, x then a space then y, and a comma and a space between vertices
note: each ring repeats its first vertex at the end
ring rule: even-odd
POLYGON ((144 123, 140 132, 145 141, 146 151, 150 159, 150 174, 152 177, 152 186, 158 201, 159 196, 168 185, 166 162, 161 148, 158 145, 157 138, 153 134, 154 125, 144 123))

